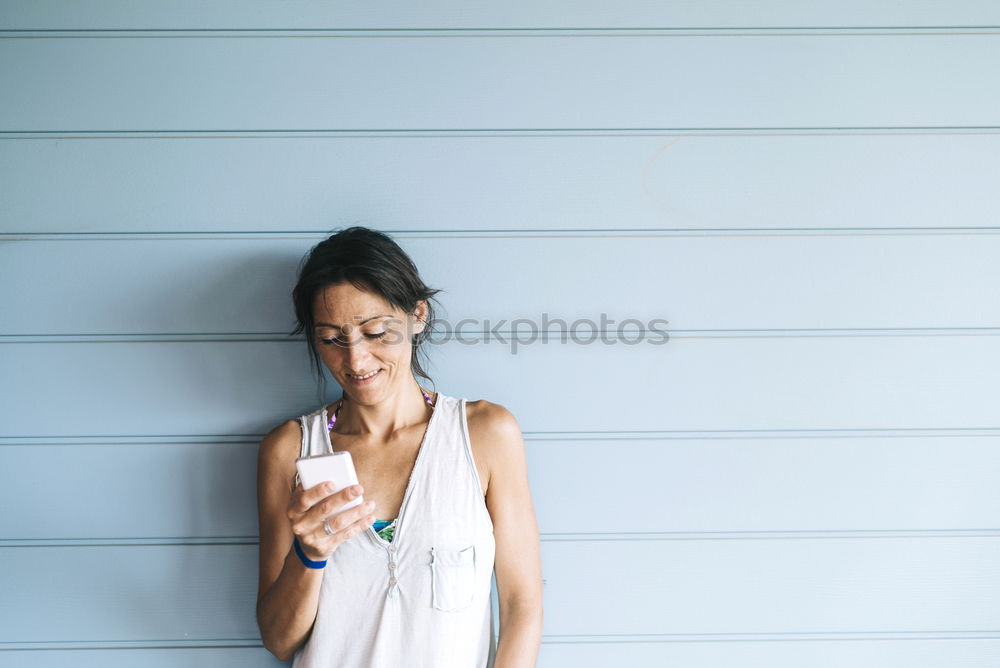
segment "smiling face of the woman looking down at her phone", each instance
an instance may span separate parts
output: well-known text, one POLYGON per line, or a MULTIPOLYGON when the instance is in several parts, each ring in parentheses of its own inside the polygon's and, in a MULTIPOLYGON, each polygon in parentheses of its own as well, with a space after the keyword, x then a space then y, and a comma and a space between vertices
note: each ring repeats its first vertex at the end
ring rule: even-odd
MULTIPOLYGON (((418 304, 417 315, 424 307, 418 304)), ((411 341, 424 328, 416 315, 339 283, 316 294, 313 320, 320 357, 352 401, 378 403, 409 384, 411 341)))

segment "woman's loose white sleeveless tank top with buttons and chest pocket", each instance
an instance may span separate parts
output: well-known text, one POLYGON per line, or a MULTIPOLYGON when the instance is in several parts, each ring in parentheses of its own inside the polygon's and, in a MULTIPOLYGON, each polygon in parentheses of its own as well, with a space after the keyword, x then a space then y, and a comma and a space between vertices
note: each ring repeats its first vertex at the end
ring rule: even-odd
MULTIPOLYGON (((496 544, 465 403, 438 393, 392 542, 369 527, 330 555, 293 668, 493 666, 496 544)), ((299 419, 302 455, 331 452, 326 407, 299 419)))

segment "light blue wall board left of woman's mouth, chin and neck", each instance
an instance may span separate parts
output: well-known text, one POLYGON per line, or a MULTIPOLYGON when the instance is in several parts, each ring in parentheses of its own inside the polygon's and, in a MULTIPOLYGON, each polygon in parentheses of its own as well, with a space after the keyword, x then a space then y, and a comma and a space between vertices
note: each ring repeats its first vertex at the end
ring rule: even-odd
POLYGON ((0 377, 7 436, 258 435, 319 406, 302 342, 6 344, 0 377))

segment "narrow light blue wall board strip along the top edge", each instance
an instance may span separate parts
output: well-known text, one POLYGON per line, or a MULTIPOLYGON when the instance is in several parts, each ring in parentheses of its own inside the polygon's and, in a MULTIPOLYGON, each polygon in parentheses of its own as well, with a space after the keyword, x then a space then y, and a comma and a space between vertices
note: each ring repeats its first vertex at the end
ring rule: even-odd
POLYGON ((464 3, 436 0, 297 2, 184 0, 169 5, 102 0, 85 10, 72 0, 36 0, 4 7, 3 30, 269 29, 269 28, 642 28, 771 26, 995 26, 1000 10, 988 0, 865 2, 821 0, 627 0, 464 3))

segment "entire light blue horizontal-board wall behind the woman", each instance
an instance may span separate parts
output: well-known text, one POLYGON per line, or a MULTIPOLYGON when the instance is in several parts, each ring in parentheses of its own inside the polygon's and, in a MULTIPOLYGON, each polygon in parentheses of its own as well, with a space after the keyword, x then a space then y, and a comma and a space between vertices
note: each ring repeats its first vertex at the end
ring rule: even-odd
POLYGON ((280 665, 257 443, 318 405, 289 291, 354 223, 452 324, 669 321, 431 347, 525 432, 540 666, 1000 665, 997 25, 0 2, 0 665, 280 665))

